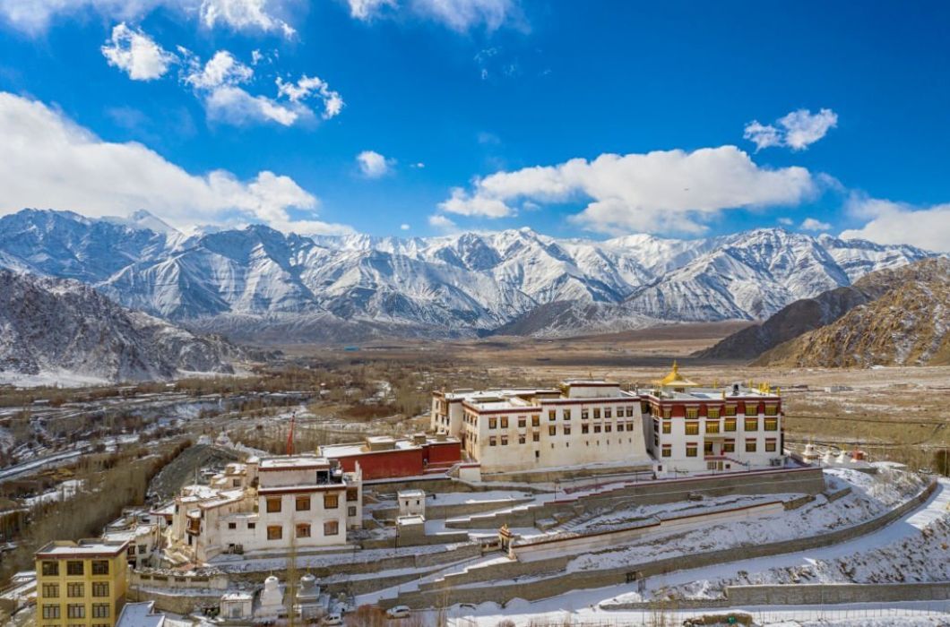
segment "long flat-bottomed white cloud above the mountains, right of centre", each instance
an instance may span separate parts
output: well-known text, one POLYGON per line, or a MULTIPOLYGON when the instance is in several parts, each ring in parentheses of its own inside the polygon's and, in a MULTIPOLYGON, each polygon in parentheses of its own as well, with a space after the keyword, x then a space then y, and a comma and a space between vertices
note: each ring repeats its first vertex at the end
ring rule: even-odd
POLYGON ((571 219, 604 233, 684 232, 731 208, 794 205, 819 184, 802 167, 759 167, 735 146, 600 155, 554 166, 498 172, 455 188, 439 207, 462 216, 503 218, 518 200, 535 203, 588 199, 571 219))

